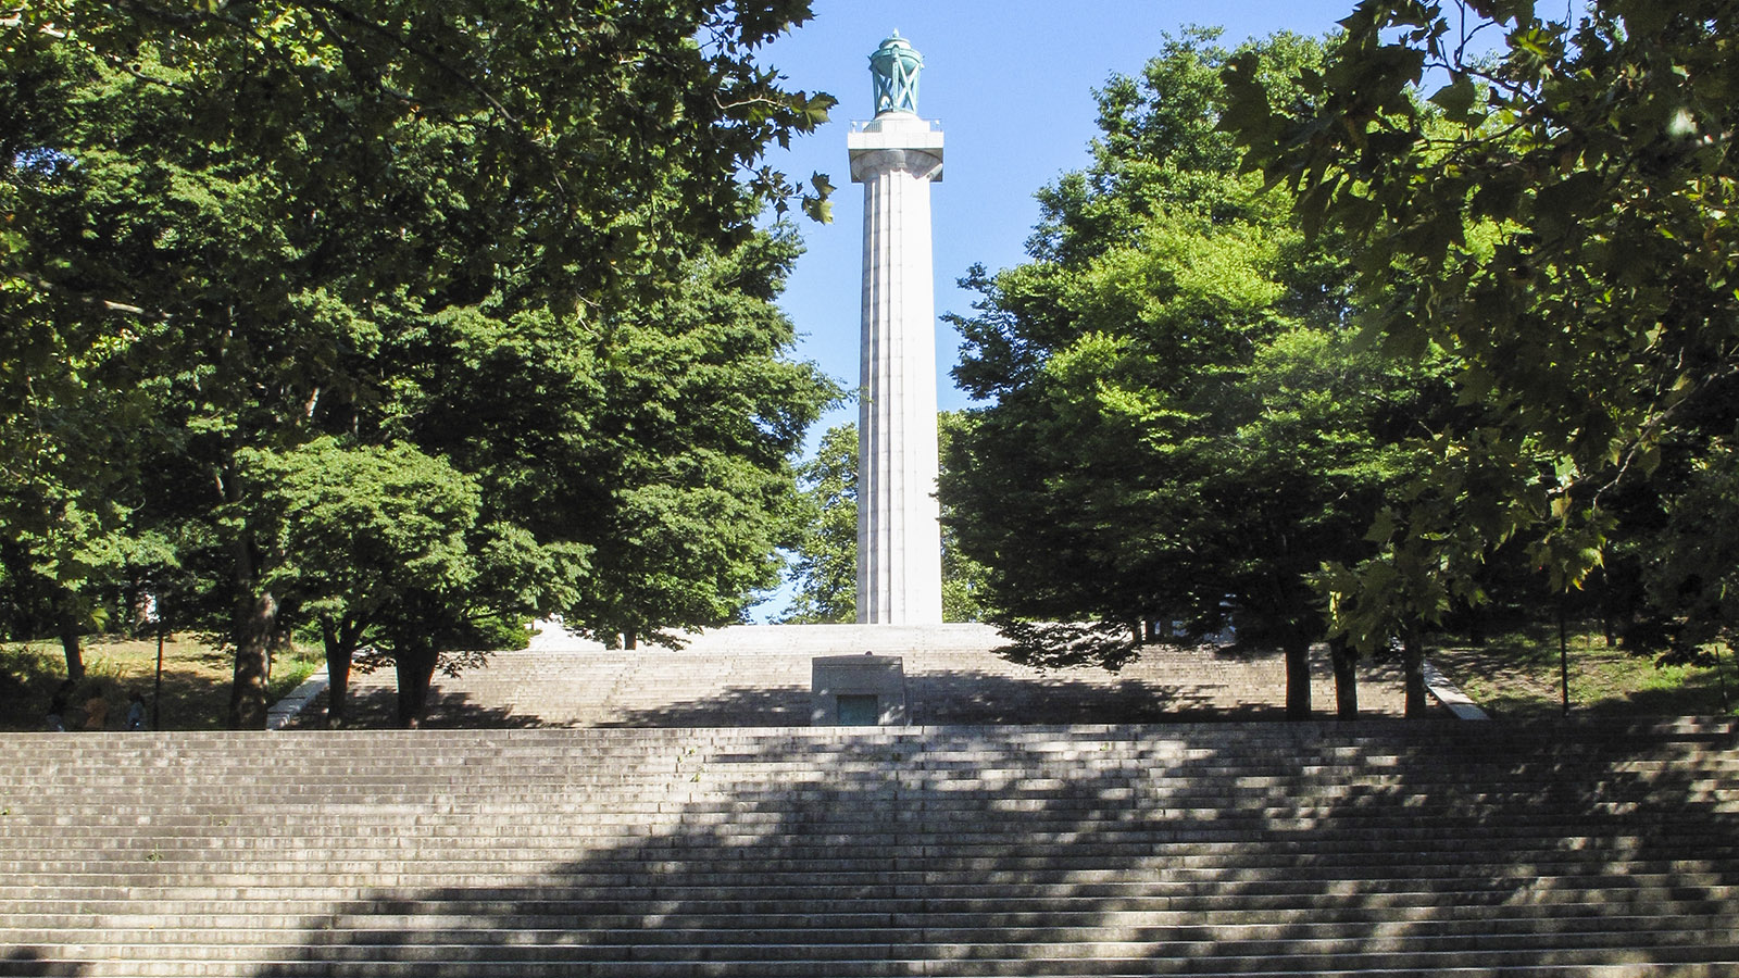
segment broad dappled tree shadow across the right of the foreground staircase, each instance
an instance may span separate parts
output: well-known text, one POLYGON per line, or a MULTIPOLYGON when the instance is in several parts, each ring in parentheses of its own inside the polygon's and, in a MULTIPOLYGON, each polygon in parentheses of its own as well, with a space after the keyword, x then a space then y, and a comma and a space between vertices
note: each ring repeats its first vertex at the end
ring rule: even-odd
POLYGON ((1739 818, 1708 750, 1734 743, 1720 724, 687 731, 565 788, 595 811, 548 846, 572 858, 337 903, 256 975, 1715 975, 1739 962, 1739 818))

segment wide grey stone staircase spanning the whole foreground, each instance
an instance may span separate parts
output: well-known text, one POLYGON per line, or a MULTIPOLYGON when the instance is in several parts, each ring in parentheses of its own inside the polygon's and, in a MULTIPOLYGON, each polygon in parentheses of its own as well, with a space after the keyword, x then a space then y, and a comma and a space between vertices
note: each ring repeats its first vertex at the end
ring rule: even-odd
POLYGON ((1739 975, 1732 722, 14 734, 0 975, 1739 975))

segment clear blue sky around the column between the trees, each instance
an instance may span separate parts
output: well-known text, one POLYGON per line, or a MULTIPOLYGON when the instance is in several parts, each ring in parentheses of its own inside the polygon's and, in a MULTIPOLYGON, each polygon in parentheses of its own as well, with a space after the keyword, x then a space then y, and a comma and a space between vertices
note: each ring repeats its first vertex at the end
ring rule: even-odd
MULTIPOLYGON (((1158 54, 1165 33, 1188 24, 1224 28, 1228 47, 1278 30, 1322 37, 1355 0, 816 0, 816 19, 774 42, 763 63, 788 85, 840 99, 816 134, 776 148, 769 162, 795 179, 821 171, 835 184, 833 223, 800 219, 807 252, 781 306, 798 331, 796 355, 821 364, 847 390, 857 386, 863 188, 850 183, 845 132, 873 115, 870 52, 894 30, 923 56, 918 113, 946 134, 944 179, 930 188, 936 313, 969 313, 972 294, 955 282, 974 263, 1019 265, 1038 218, 1033 193, 1087 164, 1094 90, 1113 73, 1134 75, 1158 54)), ((937 322, 937 402, 970 402, 948 371, 958 334, 937 322)), ((854 421, 856 404, 810 432, 854 421)), ((756 609, 777 616, 783 597, 756 609)))

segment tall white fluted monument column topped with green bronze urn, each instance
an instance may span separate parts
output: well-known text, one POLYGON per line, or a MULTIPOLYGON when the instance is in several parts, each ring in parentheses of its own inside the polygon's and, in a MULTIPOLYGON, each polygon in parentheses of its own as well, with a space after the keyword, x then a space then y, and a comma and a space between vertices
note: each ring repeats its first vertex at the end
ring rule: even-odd
POLYGON ((936 503, 936 287, 930 181, 943 132, 918 118, 923 59, 899 31, 870 56, 876 117, 847 136, 864 184, 857 392, 857 621, 943 621, 936 503))

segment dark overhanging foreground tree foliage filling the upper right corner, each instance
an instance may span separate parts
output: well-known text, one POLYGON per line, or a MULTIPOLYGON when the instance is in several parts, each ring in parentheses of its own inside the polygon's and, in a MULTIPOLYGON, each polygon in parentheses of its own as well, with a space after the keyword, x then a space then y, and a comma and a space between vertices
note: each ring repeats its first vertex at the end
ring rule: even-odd
POLYGON ((1414 646, 1506 541, 1577 586, 1662 447, 1709 472, 1696 445, 1732 430, 1739 10, 1369 0, 1343 26, 1303 99, 1236 61, 1228 125, 1306 226, 1372 244, 1369 334, 1445 352, 1483 405, 1421 440, 1431 465, 1374 527, 1383 550, 1325 574, 1343 632, 1414 646), (1478 37, 1502 45, 1476 56, 1478 37))

